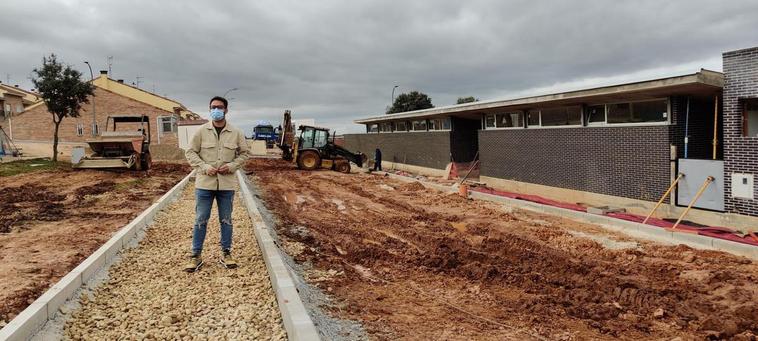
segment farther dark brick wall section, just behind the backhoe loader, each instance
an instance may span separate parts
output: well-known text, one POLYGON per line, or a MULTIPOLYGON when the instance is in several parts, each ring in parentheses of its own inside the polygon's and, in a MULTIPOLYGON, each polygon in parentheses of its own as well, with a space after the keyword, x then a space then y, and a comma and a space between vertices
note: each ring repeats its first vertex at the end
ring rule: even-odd
POLYGON ((414 166, 445 169, 450 162, 450 132, 408 132, 382 134, 346 134, 345 147, 374 158, 382 150, 382 160, 414 166))

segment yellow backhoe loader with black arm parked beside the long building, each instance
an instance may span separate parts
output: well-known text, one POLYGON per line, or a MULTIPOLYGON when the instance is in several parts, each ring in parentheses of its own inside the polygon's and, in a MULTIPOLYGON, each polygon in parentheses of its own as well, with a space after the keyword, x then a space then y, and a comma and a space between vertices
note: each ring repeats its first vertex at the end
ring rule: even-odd
POLYGON ((294 161, 297 168, 304 170, 331 169, 342 173, 350 173, 350 163, 362 167, 366 155, 353 153, 334 143, 334 135, 329 129, 301 125, 299 134, 295 137, 295 127, 292 124, 292 113, 284 111, 282 132, 277 146, 282 150, 282 159, 294 161), (330 140, 331 135, 331 140, 330 140))

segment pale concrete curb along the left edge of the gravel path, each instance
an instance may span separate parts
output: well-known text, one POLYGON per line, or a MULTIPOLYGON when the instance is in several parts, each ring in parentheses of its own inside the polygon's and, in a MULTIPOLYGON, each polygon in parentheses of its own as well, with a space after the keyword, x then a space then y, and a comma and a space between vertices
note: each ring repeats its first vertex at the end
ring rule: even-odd
POLYGON ((179 181, 160 199, 116 232, 103 246, 82 261, 66 276, 63 276, 58 283, 53 284, 50 289, 32 302, 29 307, 18 314, 8 325, 0 329, 0 340, 28 340, 34 336, 48 320, 55 317, 60 306, 72 298, 77 289, 84 283, 87 283, 92 278, 92 275, 97 273, 105 264, 108 264, 119 251, 127 247, 130 240, 137 235, 139 230, 150 225, 156 213, 181 194, 194 173, 192 171, 179 181))

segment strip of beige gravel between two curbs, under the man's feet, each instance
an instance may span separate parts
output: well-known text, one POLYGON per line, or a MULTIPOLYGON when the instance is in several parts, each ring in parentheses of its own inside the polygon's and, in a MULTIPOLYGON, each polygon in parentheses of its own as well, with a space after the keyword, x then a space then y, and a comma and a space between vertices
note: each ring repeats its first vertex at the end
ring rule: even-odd
POLYGON ((241 198, 234 200, 239 268, 218 263, 219 224, 208 224, 203 268, 182 271, 194 222, 194 186, 156 217, 138 248, 123 254, 108 279, 66 321, 67 339, 284 340, 276 297, 241 198))

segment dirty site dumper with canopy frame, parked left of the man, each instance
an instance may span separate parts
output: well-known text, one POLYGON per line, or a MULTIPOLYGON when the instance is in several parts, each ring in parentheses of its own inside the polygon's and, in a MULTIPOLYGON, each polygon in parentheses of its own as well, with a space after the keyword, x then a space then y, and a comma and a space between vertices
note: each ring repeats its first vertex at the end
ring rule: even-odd
POLYGON ((87 140, 92 154, 84 148, 74 150, 73 168, 126 168, 148 170, 150 157, 150 118, 147 115, 108 116, 105 131, 87 140))

